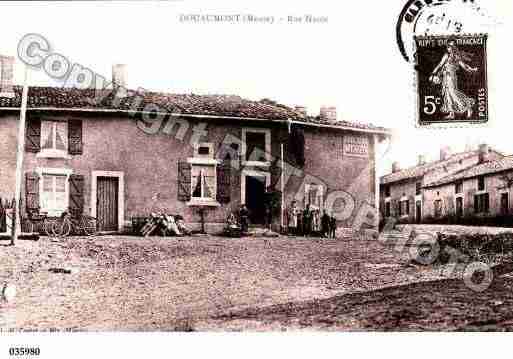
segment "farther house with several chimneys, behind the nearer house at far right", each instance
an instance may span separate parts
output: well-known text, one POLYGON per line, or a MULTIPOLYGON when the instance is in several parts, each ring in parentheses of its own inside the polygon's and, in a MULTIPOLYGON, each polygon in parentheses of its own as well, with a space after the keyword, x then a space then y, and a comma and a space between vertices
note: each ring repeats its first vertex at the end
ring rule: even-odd
POLYGON ((427 190, 430 184, 472 168, 482 161, 500 158, 504 158, 504 155, 487 145, 480 145, 477 150, 459 153, 451 153, 449 147, 444 147, 437 161, 427 162, 425 156, 421 155, 418 164, 407 169, 400 169, 395 162, 392 173, 380 179, 382 216, 395 217, 407 223, 422 223, 434 215, 432 193, 427 190))

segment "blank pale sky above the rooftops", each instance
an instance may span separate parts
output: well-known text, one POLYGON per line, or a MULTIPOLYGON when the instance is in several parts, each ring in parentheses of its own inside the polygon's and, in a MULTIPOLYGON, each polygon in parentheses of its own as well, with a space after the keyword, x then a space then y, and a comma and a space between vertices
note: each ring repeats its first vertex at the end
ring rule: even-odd
MULTIPOLYGON (((477 0, 476 0, 477 1, 477 0)), ((128 87, 173 93, 235 94, 306 106, 337 107, 341 120, 392 129, 378 173, 391 163, 414 165, 419 154, 436 159, 440 147, 461 151, 489 143, 513 154, 510 105, 511 1, 487 0, 499 25, 490 28, 490 123, 479 128, 415 127, 413 68, 401 57, 395 25, 406 0, 388 1, 160 1, 2 3, 0 53, 15 55, 18 41, 39 33, 52 49, 110 78, 112 64, 127 65, 128 87), (265 23, 192 23, 183 14, 274 16, 265 23), (288 23, 288 16, 327 17, 325 23, 288 23), (6 36, 8 33, 8 36, 6 36)), ((15 65, 21 84, 23 66, 15 65)), ((30 71, 31 85, 56 85, 30 71)))

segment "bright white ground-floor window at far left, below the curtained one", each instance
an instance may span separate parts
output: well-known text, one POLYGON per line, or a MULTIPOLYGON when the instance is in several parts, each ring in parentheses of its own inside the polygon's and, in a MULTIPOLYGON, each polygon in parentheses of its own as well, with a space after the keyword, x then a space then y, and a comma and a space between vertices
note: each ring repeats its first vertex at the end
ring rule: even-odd
POLYGON ((43 173, 41 182, 41 211, 60 215, 68 208, 68 176, 43 173))

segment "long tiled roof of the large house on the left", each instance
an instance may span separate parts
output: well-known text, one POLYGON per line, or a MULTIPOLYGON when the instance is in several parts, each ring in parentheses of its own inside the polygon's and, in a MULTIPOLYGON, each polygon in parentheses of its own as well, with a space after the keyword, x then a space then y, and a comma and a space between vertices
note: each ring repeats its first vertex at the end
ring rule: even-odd
MULTIPOLYGON (((20 86, 14 86, 13 98, 0 97, 0 109, 16 109, 21 105, 20 86)), ((162 111, 181 113, 184 115, 204 115, 221 117, 238 117, 263 120, 292 120, 314 126, 330 126, 383 132, 388 130, 370 124, 358 124, 347 121, 327 121, 319 117, 305 117, 294 109, 271 100, 251 101, 233 95, 195 95, 167 94, 145 91, 138 93, 128 90, 125 98, 116 98, 112 90, 95 91, 94 89, 76 89, 60 87, 30 87, 28 109, 59 109, 89 111, 142 111, 146 105, 157 105, 162 111), (136 97, 142 101, 134 101, 136 97), (100 98, 100 101, 96 101, 100 98)))

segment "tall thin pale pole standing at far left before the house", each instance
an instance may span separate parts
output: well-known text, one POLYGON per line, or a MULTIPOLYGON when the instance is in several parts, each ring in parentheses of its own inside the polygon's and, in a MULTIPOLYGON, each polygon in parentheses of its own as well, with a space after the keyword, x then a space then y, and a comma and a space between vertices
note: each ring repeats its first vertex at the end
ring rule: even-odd
POLYGON ((21 232, 21 181, 23 173, 23 155, 25 150, 25 122, 28 98, 28 68, 25 66, 23 93, 21 96, 20 121, 18 122, 18 150, 16 152, 16 188, 14 193, 14 227, 11 244, 15 245, 21 232))

